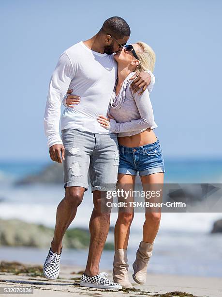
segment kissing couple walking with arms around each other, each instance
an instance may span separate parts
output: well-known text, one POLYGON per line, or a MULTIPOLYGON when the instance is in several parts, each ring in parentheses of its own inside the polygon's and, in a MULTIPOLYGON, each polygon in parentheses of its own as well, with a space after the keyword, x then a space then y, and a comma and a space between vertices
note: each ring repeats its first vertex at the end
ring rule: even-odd
MULTIPOLYGON (((155 53, 144 42, 127 44, 130 33, 124 19, 108 18, 93 37, 60 55, 49 83, 44 131, 51 160, 63 165, 65 197, 57 207, 54 237, 44 262, 48 280, 59 276, 62 239, 89 189, 89 173, 94 208, 89 221, 88 261, 80 286, 109 290, 133 287, 127 263, 133 209, 118 213, 113 281, 99 270, 110 224, 110 211, 101 210, 107 191, 115 190, 116 184, 133 189, 137 172, 144 188, 163 184, 165 172, 149 99, 155 82, 155 53), (66 106, 62 115, 61 102, 66 106)), ((136 283, 146 282, 160 219, 160 211, 145 213, 143 238, 133 263, 136 283)))

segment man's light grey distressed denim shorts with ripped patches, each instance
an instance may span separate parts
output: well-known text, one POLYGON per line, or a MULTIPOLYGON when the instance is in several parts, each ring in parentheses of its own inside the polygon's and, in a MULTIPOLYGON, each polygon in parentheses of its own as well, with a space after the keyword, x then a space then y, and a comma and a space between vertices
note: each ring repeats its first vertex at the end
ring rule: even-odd
POLYGON ((92 191, 115 190, 118 175, 118 139, 116 133, 96 134, 67 128, 61 131, 65 147, 64 188, 84 187, 92 191))

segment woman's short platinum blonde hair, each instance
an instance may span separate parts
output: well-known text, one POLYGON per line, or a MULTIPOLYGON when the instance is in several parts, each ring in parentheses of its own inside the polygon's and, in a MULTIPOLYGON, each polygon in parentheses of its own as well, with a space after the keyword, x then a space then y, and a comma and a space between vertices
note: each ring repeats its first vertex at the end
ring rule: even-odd
POLYGON ((141 48, 140 51, 137 51, 136 54, 139 58, 140 64, 137 66, 139 72, 150 70, 153 72, 154 65, 156 62, 156 55, 154 50, 148 46, 145 42, 136 42, 141 48))

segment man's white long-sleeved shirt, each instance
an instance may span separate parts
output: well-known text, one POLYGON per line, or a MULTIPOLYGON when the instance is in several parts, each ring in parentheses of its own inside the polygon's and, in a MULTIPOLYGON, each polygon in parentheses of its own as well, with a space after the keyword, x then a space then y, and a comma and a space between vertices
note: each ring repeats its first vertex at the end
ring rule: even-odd
MULTIPOLYGON (((113 55, 95 52, 81 41, 66 49, 49 82, 44 113, 44 132, 48 147, 62 144, 59 131, 60 107, 66 92, 81 97, 74 108, 66 106, 61 115, 61 129, 73 128, 99 134, 111 133, 97 121, 98 115, 107 116, 108 106, 117 79, 117 63, 113 55)), ((149 91, 155 82, 151 75, 149 91)))

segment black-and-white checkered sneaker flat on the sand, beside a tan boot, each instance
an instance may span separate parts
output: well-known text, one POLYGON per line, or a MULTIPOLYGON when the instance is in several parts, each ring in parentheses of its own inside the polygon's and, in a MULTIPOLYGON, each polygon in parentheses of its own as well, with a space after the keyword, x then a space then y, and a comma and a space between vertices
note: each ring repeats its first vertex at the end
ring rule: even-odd
POLYGON ((108 280, 106 277, 108 274, 106 272, 101 272, 93 277, 87 276, 83 273, 80 281, 81 287, 89 287, 89 288, 98 288, 98 289, 108 289, 108 290, 119 290, 122 288, 116 282, 108 280))

